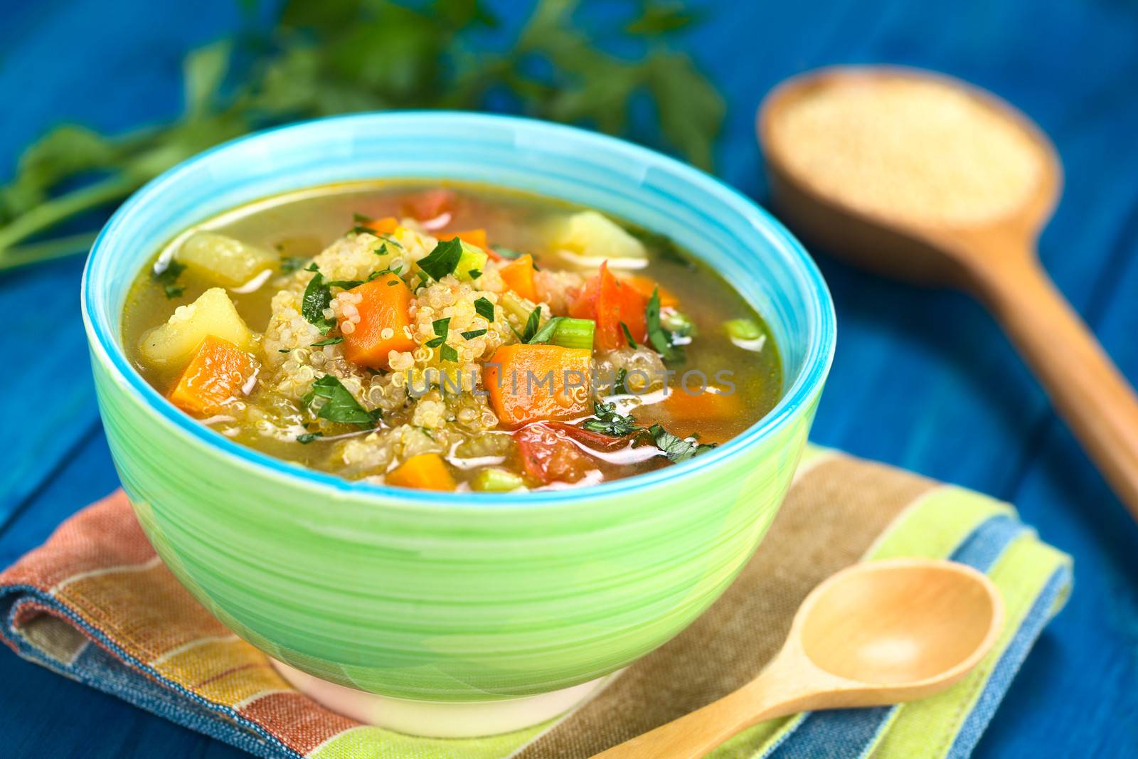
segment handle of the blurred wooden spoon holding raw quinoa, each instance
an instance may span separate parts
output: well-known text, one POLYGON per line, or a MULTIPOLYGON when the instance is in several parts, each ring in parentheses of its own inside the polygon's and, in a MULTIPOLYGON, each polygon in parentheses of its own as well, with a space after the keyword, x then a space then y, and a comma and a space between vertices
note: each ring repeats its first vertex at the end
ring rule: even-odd
POLYGON ((972 272, 978 295, 1138 520, 1138 398, 1133 388, 1055 288, 1033 251, 990 254, 988 263, 972 272))

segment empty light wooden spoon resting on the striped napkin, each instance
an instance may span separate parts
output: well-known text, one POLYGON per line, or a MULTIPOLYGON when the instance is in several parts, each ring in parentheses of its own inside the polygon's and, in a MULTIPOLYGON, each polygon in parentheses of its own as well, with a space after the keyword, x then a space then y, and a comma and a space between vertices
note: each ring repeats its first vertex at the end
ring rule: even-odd
POLYGON ((853 564, 810 592, 757 678, 596 757, 690 759, 766 719, 923 699, 967 675, 1003 624, 999 591, 965 564, 853 564))

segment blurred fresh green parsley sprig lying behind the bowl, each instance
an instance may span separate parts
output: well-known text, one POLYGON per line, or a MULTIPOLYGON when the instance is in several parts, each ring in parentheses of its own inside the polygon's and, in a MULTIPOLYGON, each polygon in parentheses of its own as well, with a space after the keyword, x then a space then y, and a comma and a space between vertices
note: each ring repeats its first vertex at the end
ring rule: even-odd
POLYGON ((86 250, 88 232, 23 244, 118 203, 205 148, 272 124, 351 110, 475 110, 504 94, 529 116, 662 141, 708 167, 723 100, 668 41, 695 15, 681 3, 635 3, 637 15, 627 23, 596 30, 584 25, 580 5, 538 0, 517 35, 492 49, 472 44, 471 38, 500 26, 477 0, 286 0, 272 28, 247 14, 236 42, 185 57, 185 108, 175 119, 115 137, 63 125, 24 151, 15 178, 0 187, 0 270, 86 250), (621 30, 618 39, 602 46, 613 28, 621 30), (397 49, 376 40, 397 40, 397 49), (646 53, 608 52, 638 43, 648 43, 646 53), (527 65, 534 60, 543 65, 527 65), (651 125, 630 117, 645 101, 657 115, 651 125))

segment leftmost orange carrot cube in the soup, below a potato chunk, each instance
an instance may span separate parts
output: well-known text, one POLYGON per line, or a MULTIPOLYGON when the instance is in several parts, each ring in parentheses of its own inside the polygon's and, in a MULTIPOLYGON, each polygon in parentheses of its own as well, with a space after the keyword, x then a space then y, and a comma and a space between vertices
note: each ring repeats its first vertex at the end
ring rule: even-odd
POLYGON ((230 399, 242 395, 245 383, 256 369, 247 352, 209 335, 170 391, 170 401, 193 414, 216 413, 230 399))

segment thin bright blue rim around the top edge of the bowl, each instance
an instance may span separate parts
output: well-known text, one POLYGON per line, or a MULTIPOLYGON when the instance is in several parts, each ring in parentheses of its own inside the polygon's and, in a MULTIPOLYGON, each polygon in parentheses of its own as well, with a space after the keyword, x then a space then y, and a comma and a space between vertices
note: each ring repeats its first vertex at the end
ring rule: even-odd
POLYGON ((104 225, 102 230, 100 230, 94 240, 94 245, 91 247, 86 265, 83 269, 80 297, 82 300, 83 322, 86 328, 88 336, 89 338, 94 338, 92 346, 98 348, 100 358, 102 358, 113 370, 115 379, 140 396, 143 404, 150 411, 157 413, 164 421, 172 424, 176 430, 188 435, 193 440, 207 446, 218 447, 234 456, 237 460, 251 465, 255 469, 265 469, 274 476, 297 478, 310 484, 330 487, 335 490, 347 492, 353 495, 382 496, 385 498, 385 503, 390 503, 391 501, 403 501, 418 505, 445 508, 453 508, 459 504, 463 506, 471 504, 489 504, 492 501, 487 496, 492 495, 501 496, 500 500, 493 501, 494 505, 508 503, 510 505, 525 506, 543 503, 552 504, 583 501, 591 498, 592 496, 602 497, 618 495, 624 492, 635 490, 650 485, 657 485, 685 477, 698 470, 716 467, 727 459, 742 453, 749 446, 756 445, 764 438, 774 435, 777 430, 785 427, 800 412, 800 410, 803 409, 803 406, 813 402, 815 396, 820 391, 826 374, 830 371, 834 356, 834 345, 836 341, 833 300, 830 296, 830 289, 826 287, 826 282, 822 278, 822 272, 818 271, 814 259, 810 258, 809 254, 798 239, 795 239, 782 223, 737 190, 690 164, 670 158, 649 148, 633 145, 619 138, 534 118, 460 110, 403 110, 397 113, 364 113, 346 116, 329 116, 262 130, 259 132, 254 132, 228 142, 223 142, 218 146, 209 148, 208 150, 204 150, 196 156, 183 160, 176 166, 166 170, 155 179, 147 182, 130 198, 127 198, 127 200, 118 207, 114 215, 112 215, 110 220, 106 223, 106 225, 104 225), (107 330, 105 329, 106 325, 100 323, 97 314, 93 313, 94 310, 88 296, 90 291, 90 279, 94 269, 93 263, 108 246, 107 238, 112 233, 117 233, 119 231, 119 225, 123 224, 123 220, 127 217, 135 207, 146 204, 147 196, 156 189, 164 184, 176 182, 183 174, 191 171, 192 167, 199 163, 211 159, 217 154, 232 149, 237 145, 259 140, 270 134, 277 134, 280 132, 311 130, 323 123, 333 123, 345 119, 379 118, 437 121, 463 118, 476 122, 484 121, 487 124, 496 123, 509 125, 518 130, 526 130, 531 134, 544 133, 551 139, 555 139, 558 137, 566 139, 571 138, 585 146, 593 145, 599 149, 608 150, 613 154, 622 152, 629 160, 660 166, 690 182, 701 192, 711 195, 725 205, 731 206, 733 211, 750 221, 762 234, 762 237, 767 239, 772 248, 783 257, 787 264, 787 269, 793 273, 795 284, 801 288, 803 294, 806 294, 806 302, 809 307, 809 330, 807 337, 808 346, 807 354, 802 362, 802 369, 799 371, 798 377, 795 377, 793 385, 791 385, 790 389, 783 394, 783 397, 775 405, 775 407, 767 412, 765 416, 756 421, 751 427, 747 428, 736 437, 718 446, 714 451, 700 455, 698 459, 691 459, 688 461, 673 464, 670 467, 663 467, 643 475, 635 475, 633 477, 612 480, 610 482, 601 482, 599 485, 553 490, 529 490, 523 493, 509 493, 504 495, 414 490, 388 485, 376 485, 360 480, 347 480, 341 477, 337 477, 336 475, 330 475, 315 469, 308 469, 302 464, 292 463, 283 459, 277 459, 254 448, 234 443, 220 432, 199 423, 196 419, 184 414, 154 387, 151 387, 145 379, 142 379, 142 376, 139 374, 138 370, 130 364, 126 356, 116 345, 115 340, 107 333, 107 330), (467 496, 471 497, 467 498, 467 496))

